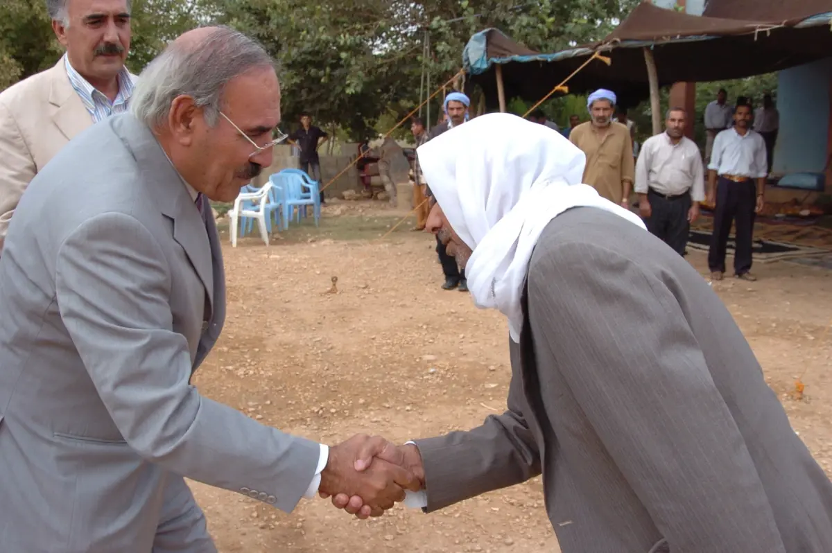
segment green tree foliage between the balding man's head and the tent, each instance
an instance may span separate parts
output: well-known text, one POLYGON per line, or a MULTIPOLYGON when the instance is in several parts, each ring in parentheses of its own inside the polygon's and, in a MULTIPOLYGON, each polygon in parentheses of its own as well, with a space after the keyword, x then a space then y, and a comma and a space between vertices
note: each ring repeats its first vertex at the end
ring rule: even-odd
POLYGON ((354 140, 371 132, 380 116, 399 119, 418 105, 423 65, 432 86, 458 72, 468 38, 484 27, 552 50, 605 36, 636 2, 216 1, 225 22, 257 37, 280 62, 285 119, 310 110, 319 121, 344 126, 354 140), (426 32, 431 48, 423 59, 426 32))

